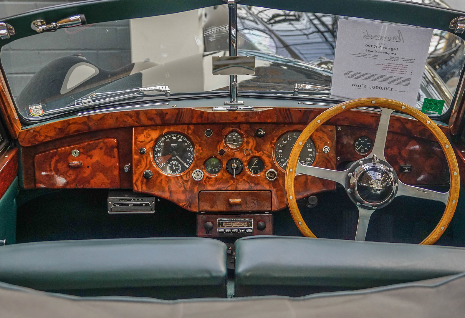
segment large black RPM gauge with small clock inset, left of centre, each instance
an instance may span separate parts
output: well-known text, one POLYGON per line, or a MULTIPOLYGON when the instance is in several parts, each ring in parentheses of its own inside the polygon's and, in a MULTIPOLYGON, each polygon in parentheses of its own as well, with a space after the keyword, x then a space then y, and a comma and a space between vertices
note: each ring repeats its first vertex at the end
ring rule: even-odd
POLYGON ((185 135, 168 133, 155 141, 153 158, 163 172, 179 174, 192 165, 194 148, 185 135))

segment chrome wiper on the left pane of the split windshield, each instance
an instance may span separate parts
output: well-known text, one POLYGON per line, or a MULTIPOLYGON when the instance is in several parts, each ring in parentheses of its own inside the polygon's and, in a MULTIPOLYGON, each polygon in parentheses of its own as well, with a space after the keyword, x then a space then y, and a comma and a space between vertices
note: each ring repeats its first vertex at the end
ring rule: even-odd
POLYGON ((102 105, 114 101, 131 99, 134 97, 145 95, 146 92, 163 92, 166 97, 170 97, 170 89, 167 85, 140 87, 133 89, 126 89, 123 91, 92 93, 88 97, 76 99, 74 106, 90 106, 102 105))

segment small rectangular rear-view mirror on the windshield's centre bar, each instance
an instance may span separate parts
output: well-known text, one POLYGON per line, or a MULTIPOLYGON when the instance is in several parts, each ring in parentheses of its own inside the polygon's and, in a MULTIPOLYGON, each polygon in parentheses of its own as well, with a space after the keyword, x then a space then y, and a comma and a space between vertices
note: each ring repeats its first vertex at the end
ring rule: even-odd
POLYGON ((255 56, 213 56, 213 75, 254 75, 255 56))

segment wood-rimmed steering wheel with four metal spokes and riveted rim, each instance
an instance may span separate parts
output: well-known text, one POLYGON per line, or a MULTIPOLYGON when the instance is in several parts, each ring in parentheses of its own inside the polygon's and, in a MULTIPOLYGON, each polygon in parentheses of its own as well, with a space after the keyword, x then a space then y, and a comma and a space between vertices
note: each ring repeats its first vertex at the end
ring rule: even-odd
POLYGON ((346 194, 359 209, 359 223, 355 234, 356 241, 365 240, 366 230, 368 229, 368 223, 373 211, 388 205, 396 197, 410 196, 445 203, 445 211, 438 225, 426 239, 420 243, 434 244, 451 222, 457 206, 460 188, 457 159, 455 158, 449 140, 439 129, 438 125, 425 114, 411 106, 396 100, 383 98, 353 99, 327 109, 306 126, 292 148, 286 171, 286 196, 289 210, 300 232, 302 232, 304 236, 316 238, 306 225, 304 219, 302 219, 302 215, 297 207, 294 194, 294 178, 296 174, 306 174, 336 181, 345 188, 346 194), (316 166, 304 166, 299 163, 299 153, 302 147, 319 126, 339 113, 361 106, 378 106, 381 108, 376 139, 372 152, 367 157, 352 163, 352 165, 344 171, 330 170, 316 166), (406 113, 417 119, 430 130, 434 137, 436 137, 445 153, 445 158, 449 166, 451 186, 448 192, 436 192, 406 185, 399 180, 395 170, 386 162, 384 148, 389 119, 393 111, 406 113))

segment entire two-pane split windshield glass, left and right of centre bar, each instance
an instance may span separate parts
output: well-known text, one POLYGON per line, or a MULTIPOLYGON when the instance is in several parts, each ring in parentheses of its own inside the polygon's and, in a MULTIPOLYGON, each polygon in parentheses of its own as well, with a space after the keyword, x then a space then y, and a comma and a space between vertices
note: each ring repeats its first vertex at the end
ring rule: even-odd
MULTIPOLYGON (((340 19, 392 25, 239 5, 238 53, 255 56, 256 67, 255 75, 239 75, 239 93, 348 99, 331 96, 340 19), (296 94, 295 84, 318 87, 296 94)), ((212 75, 212 56, 229 55, 228 32, 222 5, 40 33, 3 46, 0 58, 21 116, 43 120, 120 101, 226 93, 229 76, 212 75)), ((412 106, 440 100, 445 113, 464 60, 463 40, 434 30, 412 106)))

